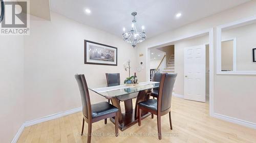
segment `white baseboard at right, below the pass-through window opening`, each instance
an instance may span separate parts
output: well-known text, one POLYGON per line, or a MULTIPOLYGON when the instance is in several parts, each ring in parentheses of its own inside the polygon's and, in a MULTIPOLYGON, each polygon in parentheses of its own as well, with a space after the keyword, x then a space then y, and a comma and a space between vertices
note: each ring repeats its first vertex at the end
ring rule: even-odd
POLYGON ((221 120, 225 120, 227 122, 231 122, 231 123, 235 123, 235 124, 239 124, 239 125, 242 125, 242 126, 246 126, 246 127, 249 127, 249 128, 256 129, 256 123, 248 122, 248 121, 245 121, 245 120, 241 120, 241 119, 221 115, 219 113, 214 113, 214 116, 212 116, 212 117, 215 117, 215 118, 218 118, 218 119, 221 119, 221 120))

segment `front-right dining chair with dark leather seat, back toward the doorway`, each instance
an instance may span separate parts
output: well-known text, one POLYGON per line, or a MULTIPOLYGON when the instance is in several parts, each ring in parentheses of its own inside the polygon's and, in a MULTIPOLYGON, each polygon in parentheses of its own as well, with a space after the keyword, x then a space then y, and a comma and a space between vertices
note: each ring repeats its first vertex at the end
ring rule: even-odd
POLYGON ((158 98, 149 99, 147 101, 140 102, 138 104, 139 108, 139 126, 141 126, 141 113, 142 110, 151 112, 154 115, 157 115, 157 129, 158 129, 158 138, 161 139, 161 116, 169 113, 169 122, 170 129, 173 129, 172 120, 170 118, 170 104, 172 102, 172 94, 175 79, 177 74, 161 74, 161 80, 158 91, 158 98))

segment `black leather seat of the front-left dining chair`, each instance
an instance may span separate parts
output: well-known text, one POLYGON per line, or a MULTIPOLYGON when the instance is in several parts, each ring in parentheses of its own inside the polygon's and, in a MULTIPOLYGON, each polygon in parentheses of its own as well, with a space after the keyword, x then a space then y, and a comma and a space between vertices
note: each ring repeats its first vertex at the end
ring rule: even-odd
POLYGON ((108 115, 117 112, 118 108, 108 102, 100 102, 92 105, 92 118, 108 115))

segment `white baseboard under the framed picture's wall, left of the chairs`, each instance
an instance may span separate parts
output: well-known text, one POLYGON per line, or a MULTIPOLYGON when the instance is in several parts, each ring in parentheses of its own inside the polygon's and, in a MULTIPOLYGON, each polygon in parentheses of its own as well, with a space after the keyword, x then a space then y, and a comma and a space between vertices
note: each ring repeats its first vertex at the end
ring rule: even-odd
POLYGON ((42 123, 42 122, 46 122, 46 121, 49 121, 49 120, 60 118, 60 117, 66 116, 66 115, 70 115, 72 113, 79 112, 81 110, 82 110, 82 107, 78 107, 78 108, 75 108, 75 109, 71 109, 71 110, 67 110, 67 111, 63 111, 63 112, 58 112, 58 113, 55 113, 53 115, 49 115, 49 116, 42 117, 42 118, 39 118, 39 119, 26 121, 24 124, 25 124, 25 127, 28 127, 28 126, 32 126, 32 125, 35 125, 35 124, 38 124, 38 123, 42 123))

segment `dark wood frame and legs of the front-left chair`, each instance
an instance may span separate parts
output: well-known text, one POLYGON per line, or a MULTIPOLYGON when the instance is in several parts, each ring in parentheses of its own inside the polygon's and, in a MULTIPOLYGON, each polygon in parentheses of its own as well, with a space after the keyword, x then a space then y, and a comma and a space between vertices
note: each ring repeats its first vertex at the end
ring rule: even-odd
MULTIPOLYGON (((111 118, 111 117, 115 117, 116 119, 119 118, 119 111, 114 112, 114 113, 110 113, 108 115, 104 115, 104 116, 100 116, 97 118, 92 118, 92 108, 91 108, 91 101, 90 101, 90 96, 89 96, 89 91, 88 91, 88 87, 87 87, 87 82, 86 82, 86 78, 84 77, 84 75, 80 75, 81 80, 82 80, 82 85, 83 85, 83 91, 86 92, 84 93, 84 95, 86 96, 86 102, 87 102, 87 108, 88 108, 88 118, 86 116, 83 115, 83 119, 82 119, 82 131, 81 131, 81 135, 83 135, 83 128, 84 128, 84 121, 86 121, 88 123, 88 139, 87 142, 90 143, 91 142, 91 135, 92 135, 92 123, 98 122, 100 120, 103 119, 107 119, 107 118, 111 118)), ((118 120, 115 120, 115 133, 116 136, 118 136, 118 120)))

